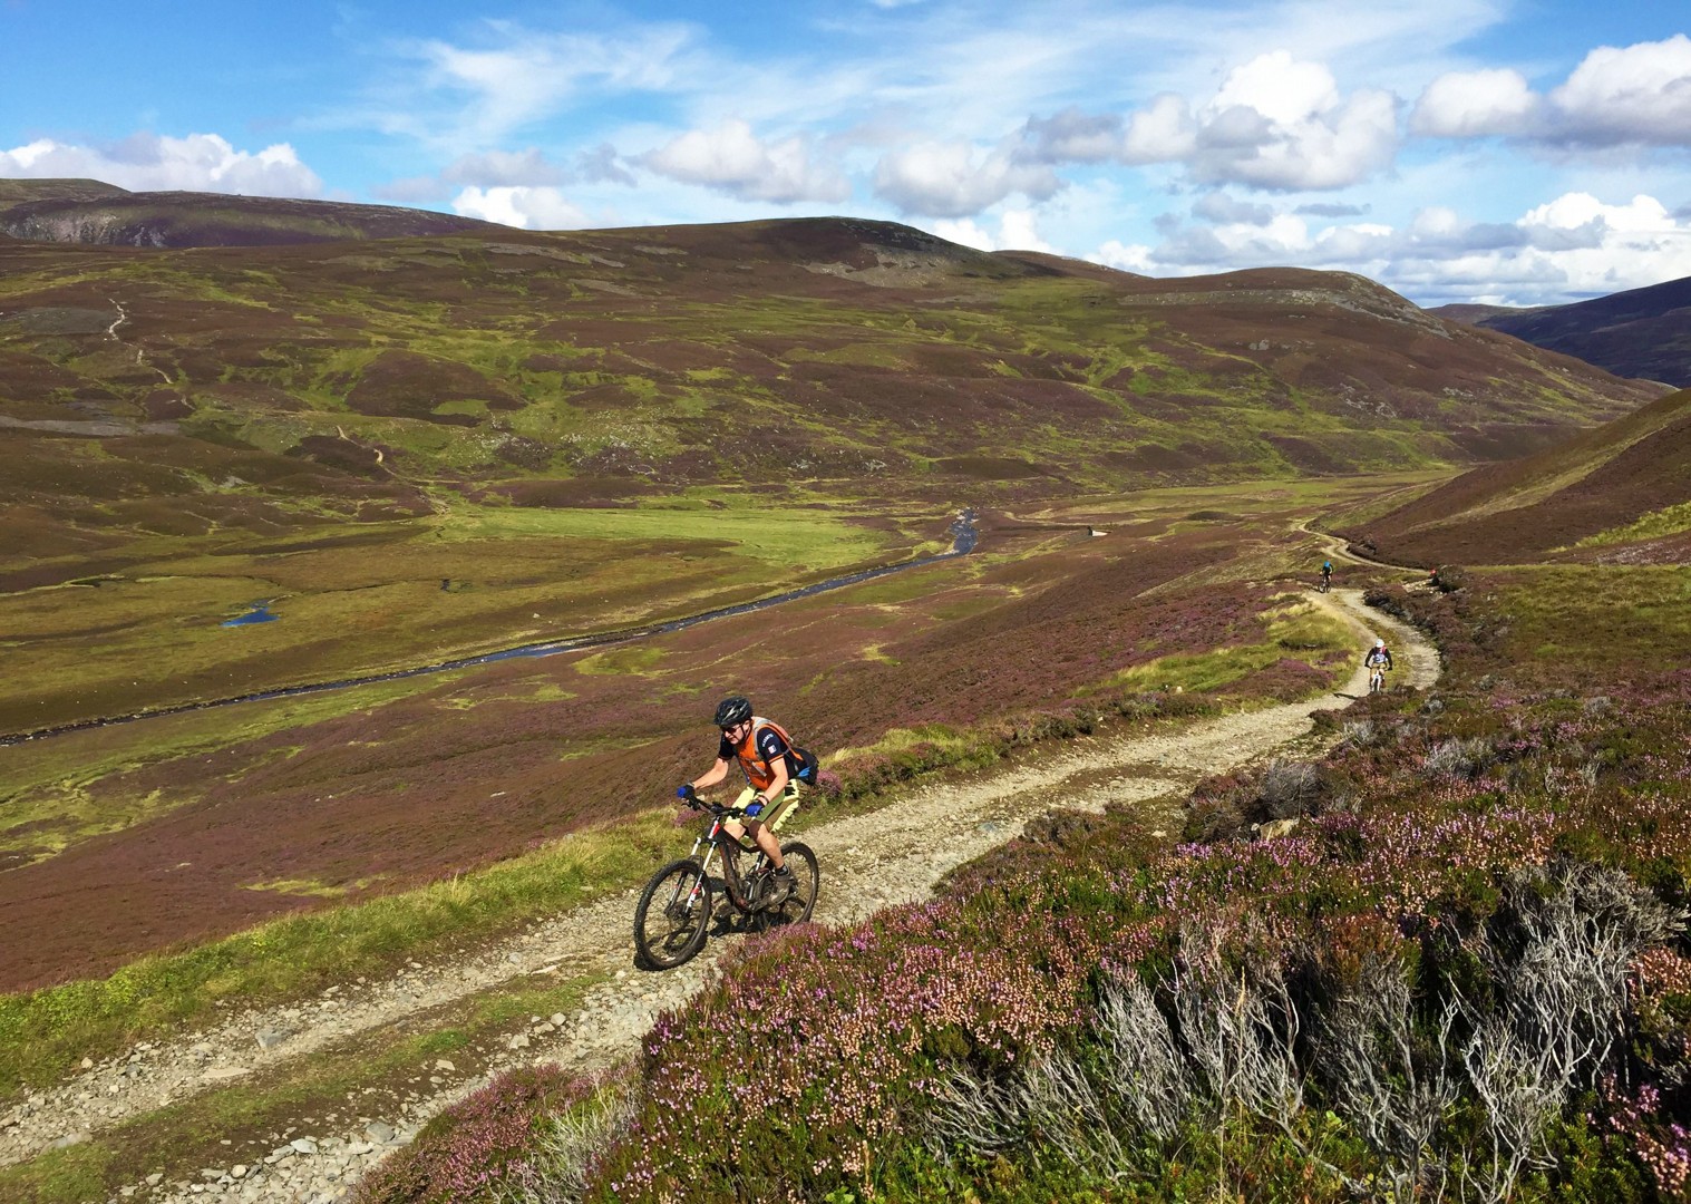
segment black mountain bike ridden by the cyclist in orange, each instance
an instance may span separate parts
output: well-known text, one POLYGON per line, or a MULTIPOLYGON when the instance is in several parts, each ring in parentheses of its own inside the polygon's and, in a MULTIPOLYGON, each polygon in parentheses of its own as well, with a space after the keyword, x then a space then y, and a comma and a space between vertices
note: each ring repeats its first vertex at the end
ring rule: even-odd
MULTIPOLYGON (((634 906, 634 949, 639 952, 639 960, 651 969, 666 971, 680 966, 705 947, 705 935, 717 910, 717 886, 751 932, 803 923, 817 906, 822 871, 817 867, 817 854, 808 846, 796 840, 781 844, 781 857, 793 873, 793 893, 771 905, 774 866, 754 840, 736 837, 727 830, 727 822, 746 812, 703 798, 695 798, 688 805, 709 812, 710 827, 693 840, 688 856, 671 861, 651 876, 634 906), (742 852, 751 857, 751 867, 744 874, 739 866, 742 852), (720 876, 715 876, 719 873, 720 876)), ((724 913, 720 918, 725 932, 731 917, 724 913)))

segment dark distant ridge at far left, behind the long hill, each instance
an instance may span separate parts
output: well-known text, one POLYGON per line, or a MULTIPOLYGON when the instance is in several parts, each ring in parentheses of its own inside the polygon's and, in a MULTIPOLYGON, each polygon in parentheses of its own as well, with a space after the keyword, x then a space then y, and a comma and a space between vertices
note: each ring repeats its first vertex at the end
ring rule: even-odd
POLYGON ((130 193, 98 179, 0 181, 0 233, 113 247, 281 247, 502 230, 455 213, 227 193, 130 193))

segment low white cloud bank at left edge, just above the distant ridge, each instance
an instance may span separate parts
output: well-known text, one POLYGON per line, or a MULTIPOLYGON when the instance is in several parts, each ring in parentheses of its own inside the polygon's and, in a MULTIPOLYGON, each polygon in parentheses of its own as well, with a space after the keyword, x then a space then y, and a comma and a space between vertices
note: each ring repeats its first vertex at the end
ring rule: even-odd
POLYGON ((0 150, 0 176, 88 178, 130 191, 321 196, 323 181, 286 142, 237 150, 216 134, 172 139, 135 134, 108 145, 68 145, 39 139, 0 150))

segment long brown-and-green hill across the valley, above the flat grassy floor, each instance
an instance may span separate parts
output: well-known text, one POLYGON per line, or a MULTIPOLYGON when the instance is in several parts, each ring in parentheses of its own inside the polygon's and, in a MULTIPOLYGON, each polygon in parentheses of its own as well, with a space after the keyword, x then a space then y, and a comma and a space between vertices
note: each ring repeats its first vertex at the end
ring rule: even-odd
MULTIPOLYGON (((205 232, 306 203, 171 205, 205 232)), ((1426 468, 1657 392, 1354 276, 1158 281, 854 220, 0 244, 0 502, 37 531, 1426 468)))

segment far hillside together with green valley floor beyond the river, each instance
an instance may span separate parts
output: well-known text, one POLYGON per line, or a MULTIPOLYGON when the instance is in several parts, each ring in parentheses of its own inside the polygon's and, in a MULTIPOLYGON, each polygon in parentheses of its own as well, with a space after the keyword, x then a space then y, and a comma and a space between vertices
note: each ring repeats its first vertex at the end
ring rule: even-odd
POLYGON ((844 218, 0 244, 0 626, 42 656, 0 732, 739 604, 964 504, 1441 472, 1657 394, 1354 276, 844 218), (287 621, 222 636, 254 600, 287 621))

